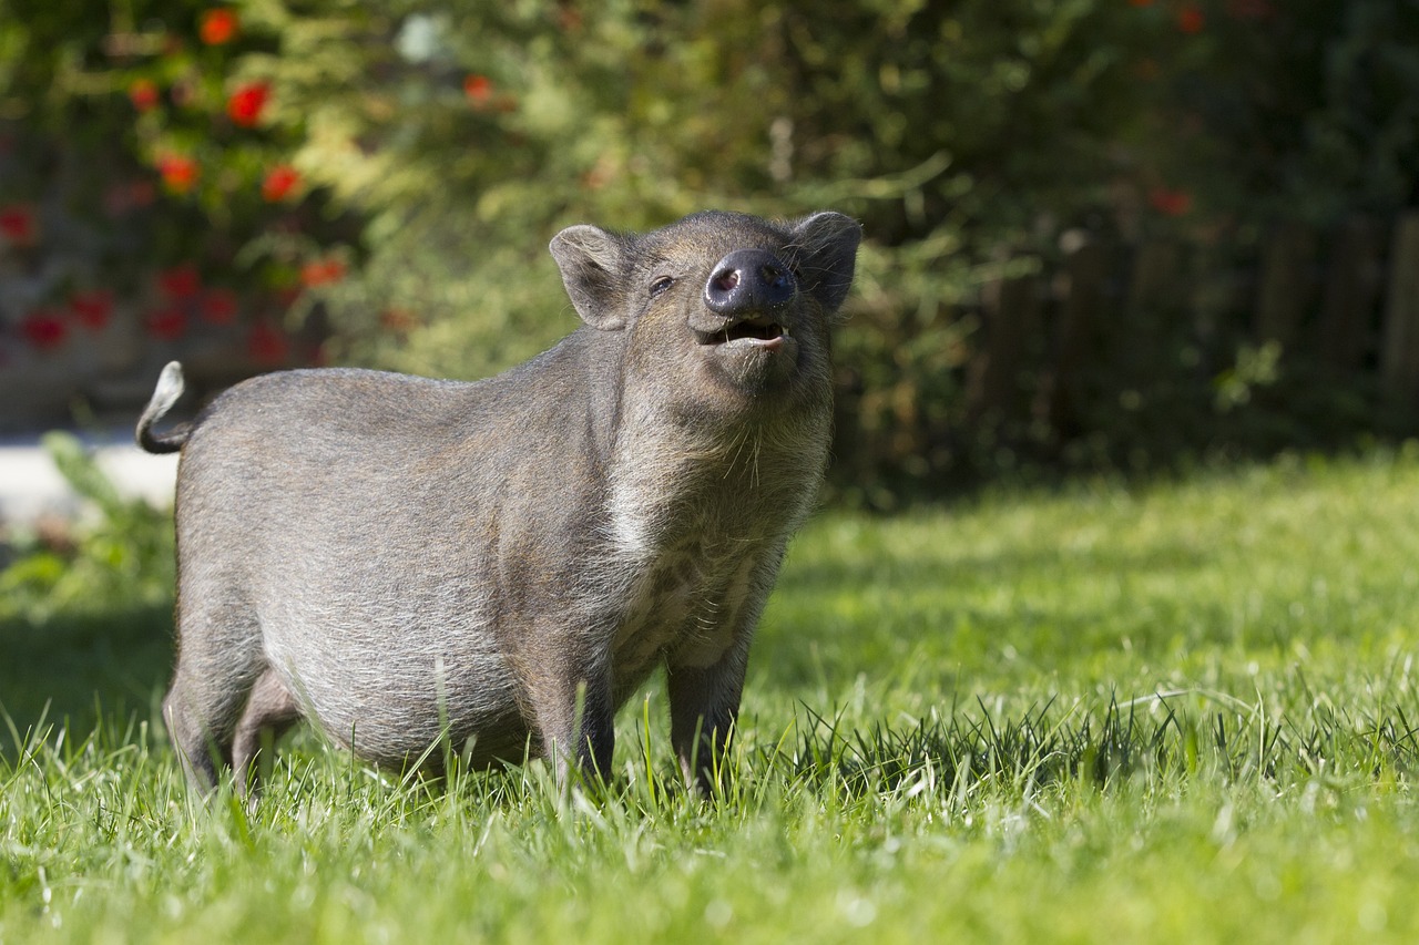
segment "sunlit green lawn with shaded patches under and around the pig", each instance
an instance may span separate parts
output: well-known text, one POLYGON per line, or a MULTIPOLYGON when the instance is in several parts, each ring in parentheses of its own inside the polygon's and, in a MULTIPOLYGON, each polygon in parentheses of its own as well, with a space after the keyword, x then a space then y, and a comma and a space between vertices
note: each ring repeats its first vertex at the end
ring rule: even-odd
POLYGON ((146 599, 0 621, 0 941, 1419 934, 1415 453, 824 514, 707 803, 650 687, 603 802, 298 734, 254 816, 194 812, 167 633, 146 599))

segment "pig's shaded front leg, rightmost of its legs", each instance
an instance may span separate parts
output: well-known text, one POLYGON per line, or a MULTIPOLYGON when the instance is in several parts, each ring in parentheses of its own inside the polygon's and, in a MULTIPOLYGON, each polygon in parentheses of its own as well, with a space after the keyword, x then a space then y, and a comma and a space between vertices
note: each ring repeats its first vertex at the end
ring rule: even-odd
POLYGON ((685 782, 708 796, 724 776, 724 759, 739 715, 749 637, 745 633, 710 665, 666 667, 670 692, 670 742, 685 782))

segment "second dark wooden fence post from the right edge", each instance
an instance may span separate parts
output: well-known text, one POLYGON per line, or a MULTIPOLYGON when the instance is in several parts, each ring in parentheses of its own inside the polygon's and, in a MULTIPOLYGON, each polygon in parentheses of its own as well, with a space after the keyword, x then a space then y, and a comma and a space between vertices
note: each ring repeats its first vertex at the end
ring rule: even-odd
POLYGON ((1382 253, 1384 231, 1374 217, 1357 216, 1341 224, 1315 322, 1317 353, 1335 372, 1355 370, 1364 362, 1379 302, 1382 253))

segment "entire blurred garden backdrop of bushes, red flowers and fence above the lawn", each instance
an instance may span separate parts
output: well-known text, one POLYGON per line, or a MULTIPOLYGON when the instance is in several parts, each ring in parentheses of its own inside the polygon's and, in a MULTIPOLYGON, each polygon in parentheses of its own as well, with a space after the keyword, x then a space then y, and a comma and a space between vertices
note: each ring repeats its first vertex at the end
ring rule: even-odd
POLYGON ((575 328, 563 226, 833 207, 834 501, 1355 448, 1416 184, 1413 0, 0 0, 0 434, 484 376, 575 328))

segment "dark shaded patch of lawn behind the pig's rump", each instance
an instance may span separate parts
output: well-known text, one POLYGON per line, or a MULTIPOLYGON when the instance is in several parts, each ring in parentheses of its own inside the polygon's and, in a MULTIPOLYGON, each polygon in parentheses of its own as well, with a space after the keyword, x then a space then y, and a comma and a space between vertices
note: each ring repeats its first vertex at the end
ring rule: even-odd
MULTIPOLYGON (((172 607, 0 620, 0 708, 20 735, 41 721, 85 738, 104 719, 160 722, 172 668, 172 607)), ((0 734, 0 755, 16 746, 0 734)))

